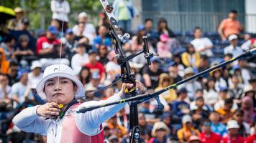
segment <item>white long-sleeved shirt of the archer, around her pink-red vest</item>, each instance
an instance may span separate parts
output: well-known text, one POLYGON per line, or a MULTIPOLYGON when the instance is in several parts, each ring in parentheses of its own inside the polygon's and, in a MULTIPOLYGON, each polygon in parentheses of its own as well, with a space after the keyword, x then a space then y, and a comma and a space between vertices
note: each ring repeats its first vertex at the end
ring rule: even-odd
MULTIPOLYGON (((80 104, 78 109, 96 104, 106 104, 115 101, 117 102, 121 99, 122 98, 119 97, 119 94, 115 94, 114 96, 109 97, 109 99, 104 101, 91 101, 80 104)), ((73 112, 73 114, 75 114, 74 116, 76 126, 81 132, 83 132, 83 134, 88 136, 99 134, 102 131, 100 129, 101 123, 114 116, 114 114, 122 109, 124 105, 125 103, 111 105, 109 107, 94 109, 91 112, 86 112, 83 114, 77 114, 76 112, 73 112)), ((68 109, 62 119, 58 118, 45 120, 45 118, 40 117, 36 113, 37 107, 39 106, 40 105, 29 107, 17 114, 13 119, 14 124, 24 132, 34 132, 37 134, 47 135, 47 142, 60 142, 61 137, 67 135, 65 134, 65 131, 63 132, 63 119, 65 119, 65 117, 68 116, 68 114, 70 114, 72 111, 68 109)))

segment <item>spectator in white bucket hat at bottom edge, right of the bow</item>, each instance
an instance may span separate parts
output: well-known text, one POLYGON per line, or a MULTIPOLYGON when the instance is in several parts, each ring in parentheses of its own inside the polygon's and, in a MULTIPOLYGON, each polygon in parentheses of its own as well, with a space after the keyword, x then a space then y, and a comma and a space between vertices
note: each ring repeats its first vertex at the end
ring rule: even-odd
POLYGON ((163 122, 156 122, 152 129, 152 138, 149 143, 155 142, 163 142, 168 143, 170 139, 168 138, 168 134, 170 134, 170 129, 163 122))

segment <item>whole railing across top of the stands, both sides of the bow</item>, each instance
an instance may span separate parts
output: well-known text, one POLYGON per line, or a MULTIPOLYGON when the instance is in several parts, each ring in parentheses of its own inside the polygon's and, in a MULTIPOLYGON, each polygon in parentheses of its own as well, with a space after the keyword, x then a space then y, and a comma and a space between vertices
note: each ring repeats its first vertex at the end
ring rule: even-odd
MULTIPOLYGON (((82 11, 82 10, 81 10, 82 11)), ((74 26, 81 11, 71 11, 69 14, 69 26, 74 26)), ((99 11, 86 11, 89 21, 97 24, 99 11)), ((32 29, 45 29, 52 18, 51 11, 28 11, 32 29), (36 15, 36 16, 35 16, 36 15)), ((217 12, 175 12, 175 11, 142 11, 140 20, 136 19, 133 28, 142 24, 147 18, 154 19, 154 26, 157 28, 157 21, 161 17, 168 21, 168 26, 173 31, 180 31, 183 35, 186 31, 192 31, 196 26, 201 26, 204 31, 217 31, 221 20, 227 18, 227 13, 217 12)), ((245 31, 256 32, 256 14, 239 14, 238 20, 244 25, 245 31)))

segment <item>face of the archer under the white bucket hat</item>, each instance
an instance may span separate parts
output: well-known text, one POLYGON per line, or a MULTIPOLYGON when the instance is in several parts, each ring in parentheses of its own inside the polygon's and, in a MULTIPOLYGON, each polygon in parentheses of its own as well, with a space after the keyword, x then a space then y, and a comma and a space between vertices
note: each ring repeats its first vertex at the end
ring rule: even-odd
POLYGON ((48 102, 67 104, 71 102, 76 94, 76 86, 70 79, 54 77, 45 83, 45 94, 48 102))

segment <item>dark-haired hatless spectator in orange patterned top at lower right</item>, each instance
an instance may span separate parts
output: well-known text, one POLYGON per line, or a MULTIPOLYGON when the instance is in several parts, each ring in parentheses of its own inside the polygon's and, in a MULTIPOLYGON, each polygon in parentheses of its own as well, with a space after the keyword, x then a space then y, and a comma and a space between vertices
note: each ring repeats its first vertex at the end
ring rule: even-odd
POLYGON ((234 111, 232 110, 233 100, 225 99, 223 107, 216 110, 221 115, 221 122, 226 124, 230 119, 232 119, 232 115, 234 111))

